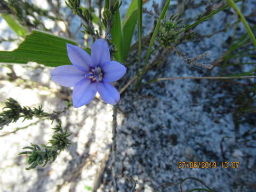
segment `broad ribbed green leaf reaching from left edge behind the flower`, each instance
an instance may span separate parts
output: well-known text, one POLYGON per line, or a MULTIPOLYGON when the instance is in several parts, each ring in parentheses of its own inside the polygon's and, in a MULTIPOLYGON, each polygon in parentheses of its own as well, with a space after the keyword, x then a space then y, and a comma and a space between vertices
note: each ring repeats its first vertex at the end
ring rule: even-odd
POLYGON ((25 64, 33 61, 50 67, 71 65, 67 54, 67 43, 76 45, 68 39, 33 30, 18 49, 0 51, 0 62, 25 64))

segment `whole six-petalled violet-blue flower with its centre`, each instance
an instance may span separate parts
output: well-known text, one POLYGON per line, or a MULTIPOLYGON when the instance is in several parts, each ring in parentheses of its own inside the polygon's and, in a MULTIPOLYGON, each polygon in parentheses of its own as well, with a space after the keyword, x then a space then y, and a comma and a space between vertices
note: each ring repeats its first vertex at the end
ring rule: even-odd
POLYGON ((123 77, 126 67, 110 60, 108 43, 104 39, 97 39, 92 45, 91 56, 75 45, 67 44, 67 51, 73 65, 59 66, 51 71, 51 75, 59 85, 74 86, 74 107, 89 103, 97 91, 103 101, 115 105, 120 94, 110 82, 123 77))

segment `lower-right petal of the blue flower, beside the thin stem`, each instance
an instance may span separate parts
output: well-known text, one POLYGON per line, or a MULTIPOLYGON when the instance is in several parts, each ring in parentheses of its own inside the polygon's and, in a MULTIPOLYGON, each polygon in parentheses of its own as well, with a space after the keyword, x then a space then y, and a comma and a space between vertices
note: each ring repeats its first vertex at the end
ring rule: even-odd
POLYGON ((119 92, 110 83, 99 82, 98 92, 100 93, 101 99, 111 105, 116 105, 120 99, 119 92))

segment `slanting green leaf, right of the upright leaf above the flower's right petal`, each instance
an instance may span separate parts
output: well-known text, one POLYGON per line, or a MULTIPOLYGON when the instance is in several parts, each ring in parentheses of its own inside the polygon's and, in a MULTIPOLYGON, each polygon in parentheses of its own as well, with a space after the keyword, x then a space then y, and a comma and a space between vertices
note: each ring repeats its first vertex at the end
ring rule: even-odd
POLYGON ((124 46, 123 46, 123 59, 125 60, 127 58, 127 55, 130 50, 131 42, 132 42, 132 36, 134 33, 134 29, 137 23, 138 18, 138 11, 135 10, 127 22, 125 22, 124 28, 123 28, 123 35, 124 35, 124 46))

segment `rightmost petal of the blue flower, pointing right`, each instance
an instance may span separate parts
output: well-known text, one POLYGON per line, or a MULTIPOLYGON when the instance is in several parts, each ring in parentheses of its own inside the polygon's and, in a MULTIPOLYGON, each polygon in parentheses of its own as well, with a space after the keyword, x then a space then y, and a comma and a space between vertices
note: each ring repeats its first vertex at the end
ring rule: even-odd
POLYGON ((124 76, 126 67, 117 61, 109 61, 102 65, 103 82, 114 82, 124 76))

